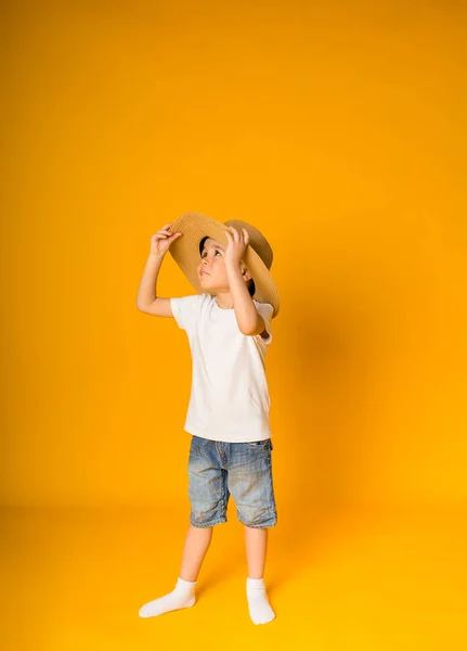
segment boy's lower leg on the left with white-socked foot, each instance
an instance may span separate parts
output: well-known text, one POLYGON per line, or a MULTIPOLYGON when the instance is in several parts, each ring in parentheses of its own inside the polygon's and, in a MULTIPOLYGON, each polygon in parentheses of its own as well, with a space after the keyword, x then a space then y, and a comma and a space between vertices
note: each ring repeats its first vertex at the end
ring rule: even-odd
POLYGON ((185 537, 182 566, 177 585, 171 592, 148 601, 140 608, 140 617, 155 617, 170 611, 190 608, 196 603, 196 579, 209 548, 213 527, 195 527, 192 524, 185 537))

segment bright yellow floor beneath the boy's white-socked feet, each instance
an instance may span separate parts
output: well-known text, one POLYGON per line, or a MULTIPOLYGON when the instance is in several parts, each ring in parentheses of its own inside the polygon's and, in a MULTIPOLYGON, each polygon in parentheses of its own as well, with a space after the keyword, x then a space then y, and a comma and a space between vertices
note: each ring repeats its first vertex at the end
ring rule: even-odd
POLYGON ((141 620, 177 580, 184 509, 3 509, 3 651, 467 649, 467 509, 283 506, 264 575, 276 618, 262 626, 232 502, 228 514, 195 607, 141 620))

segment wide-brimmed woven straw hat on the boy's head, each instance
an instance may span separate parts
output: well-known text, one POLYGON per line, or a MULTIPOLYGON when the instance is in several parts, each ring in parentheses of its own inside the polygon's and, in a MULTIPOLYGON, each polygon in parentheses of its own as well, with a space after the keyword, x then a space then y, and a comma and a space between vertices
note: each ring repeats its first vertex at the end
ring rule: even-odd
POLYGON ((270 303, 274 308, 272 318, 276 317, 280 296, 270 273, 273 258, 272 248, 264 235, 247 221, 229 219, 222 224, 199 213, 184 213, 170 226, 172 233, 183 233, 182 238, 177 238, 170 245, 169 251, 173 259, 196 290, 196 293, 205 293, 206 290, 202 288, 197 273, 197 267, 200 263, 199 242, 203 238, 208 237, 226 246, 229 244, 225 235, 226 226, 233 226, 241 232, 244 228, 248 232, 249 242, 243 261, 248 267, 248 271, 255 281, 255 295, 252 298, 258 303, 270 303))

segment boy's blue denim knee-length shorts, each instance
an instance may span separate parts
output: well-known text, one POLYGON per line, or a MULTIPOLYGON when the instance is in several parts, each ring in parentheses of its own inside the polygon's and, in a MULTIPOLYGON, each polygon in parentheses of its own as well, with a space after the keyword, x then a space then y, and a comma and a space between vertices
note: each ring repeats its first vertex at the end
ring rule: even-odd
POLYGON ((270 438, 226 443, 192 435, 189 459, 190 522, 209 527, 226 522, 232 495, 246 526, 272 527, 277 513, 272 482, 270 438))

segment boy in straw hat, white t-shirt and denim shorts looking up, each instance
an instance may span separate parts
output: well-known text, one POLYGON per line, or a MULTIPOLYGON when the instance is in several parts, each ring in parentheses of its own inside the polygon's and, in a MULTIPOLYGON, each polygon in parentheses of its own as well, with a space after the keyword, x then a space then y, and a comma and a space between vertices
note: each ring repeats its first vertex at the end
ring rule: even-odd
POLYGON ((271 246, 251 225, 221 224, 196 213, 166 224, 152 237, 138 307, 146 314, 173 317, 189 336, 193 375, 184 429, 192 434, 191 514, 177 585, 141 607, 142 617, 195 604, 198 573, 213 526, 226 522, 230 495, 245 525, 250 617, 255 624, 275 617, 263 580, 268 527, 277 522, 264 368, 271 320, 280 305, 269 271, 272 257, 271 246), (158 272, 169 247, 197 294, 156 296, 158 272))

